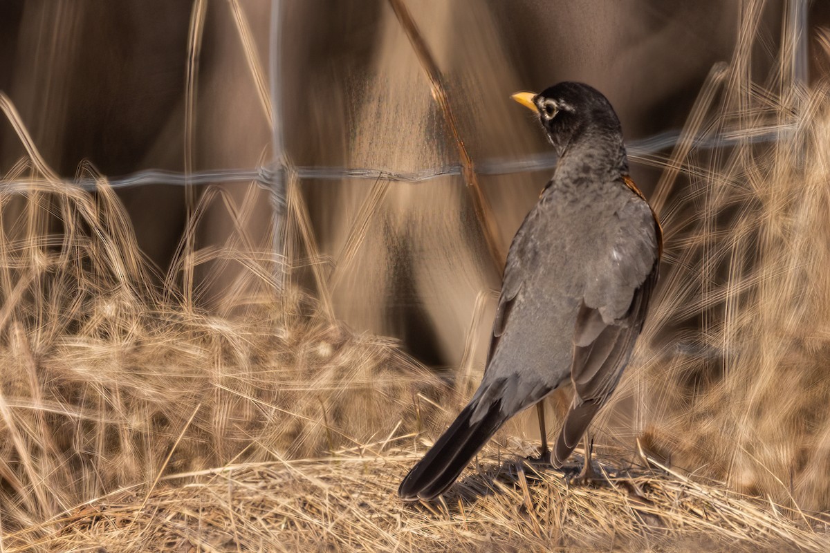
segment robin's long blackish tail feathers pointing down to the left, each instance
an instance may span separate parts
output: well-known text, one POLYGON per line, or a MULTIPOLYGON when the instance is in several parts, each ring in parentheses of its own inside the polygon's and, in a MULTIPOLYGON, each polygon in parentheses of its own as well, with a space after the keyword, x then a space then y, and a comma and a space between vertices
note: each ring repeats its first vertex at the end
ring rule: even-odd
POLYGON ((467 405, 432 449, 403 478, 398 495, 404 501, 428 500, 446 492, 470 459, 496 434, 505 421, 500 401, 492 404, 481 420, 471 424, 476 405, 467 405))

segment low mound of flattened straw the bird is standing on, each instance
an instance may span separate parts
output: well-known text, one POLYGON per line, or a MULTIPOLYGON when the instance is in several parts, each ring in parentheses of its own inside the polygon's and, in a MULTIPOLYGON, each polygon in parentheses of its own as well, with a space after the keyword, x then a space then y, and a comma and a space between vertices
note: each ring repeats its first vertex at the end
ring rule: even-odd
MULTIPOLYGON (((6 551, 827 551, 825 523, 661 469, 611 469, 571 487, 488 449, 446 501, 398 501, 417 458, 361 454, 244 463, 167 478, 76 507, 51 536, 6 551), (794 515, 794 517, 793 517, 794 515)), ((511 451, 509 454, 515 454, 511 451)), ((507 454, 507 452, 505 452, 507 454)), ((574 471, 575 472, 575 471, 574 471)))

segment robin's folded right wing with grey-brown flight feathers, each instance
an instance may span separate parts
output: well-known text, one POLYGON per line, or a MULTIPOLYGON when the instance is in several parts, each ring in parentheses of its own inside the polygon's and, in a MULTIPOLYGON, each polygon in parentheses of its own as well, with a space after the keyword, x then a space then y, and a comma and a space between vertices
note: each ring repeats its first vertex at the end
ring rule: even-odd
POLYGON ((552 462, 560 466, 617 387, 657 283, 661 230, 651 208, 628 201, 615 216, 613 248, 592 268, 574 328, 574 402, 552 462))

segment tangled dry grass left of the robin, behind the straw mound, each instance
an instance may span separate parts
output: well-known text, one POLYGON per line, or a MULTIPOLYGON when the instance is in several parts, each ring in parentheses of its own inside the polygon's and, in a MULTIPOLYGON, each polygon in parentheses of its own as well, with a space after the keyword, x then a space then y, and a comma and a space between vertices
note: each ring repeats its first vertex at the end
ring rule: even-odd
POLYGON ((6 182, 17 193, 0 209, 4 531, 48 536, 61 525, 44 521, 125 485, 326 454, 432 420, 417 395, 440 400, 441 381, 297 289, 277 293, 272 256, 184 247, 159 291, 105 181, 90 194, 21 164, 6 182), (246 265, 234 288, 250 295, 200 312, 176 292, 183 260, 246 265))

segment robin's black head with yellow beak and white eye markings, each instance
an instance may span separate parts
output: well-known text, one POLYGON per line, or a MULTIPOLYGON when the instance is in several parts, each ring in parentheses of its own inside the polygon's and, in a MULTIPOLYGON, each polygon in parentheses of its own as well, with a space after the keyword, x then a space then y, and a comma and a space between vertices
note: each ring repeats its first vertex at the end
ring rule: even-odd
POLYGON ((591 86, 562 82, 539 94, 517 92, 511 98, 539 114, 548 140, 560 157, 589 136, 622 144, 623 131, 617 114, 608 99, 591 86))

